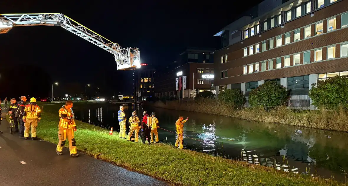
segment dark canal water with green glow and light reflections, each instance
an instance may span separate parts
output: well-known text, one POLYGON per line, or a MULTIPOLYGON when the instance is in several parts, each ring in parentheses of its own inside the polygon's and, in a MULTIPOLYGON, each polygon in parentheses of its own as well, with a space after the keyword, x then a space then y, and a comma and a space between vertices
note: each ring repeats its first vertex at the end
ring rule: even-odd
MULTIPOLYGON (((118 105, 76 109, 76 119, 93 125, 119 130, 118 105)), ((125 105, 127 118, 142 108, 125 105)), ((310 174, 346 181, 348 171, 348 133, 282 124, 251 122, 243 119, 161 108, 144 108, 156 112, 159 140, 174 144, 175 121, 189 117, 184 124, 184 148, 271 166, 279 171, 310 174), (169 132, 171 131, 171 132, 169 132)), ((128 127, 128 126, 127 126, 128 127)), ((128 132, 128 129, 127 129, 128 132)))

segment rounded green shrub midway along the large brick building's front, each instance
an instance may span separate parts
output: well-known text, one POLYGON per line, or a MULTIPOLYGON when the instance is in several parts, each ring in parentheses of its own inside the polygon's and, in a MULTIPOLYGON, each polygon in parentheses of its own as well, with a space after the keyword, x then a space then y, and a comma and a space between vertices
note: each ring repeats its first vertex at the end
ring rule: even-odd
POLYGON ((249 104, 252 107, 262 106, 268 111, 284 104, 286 98, 287 91, 284 86, 266 82, 250 92, 249 104))

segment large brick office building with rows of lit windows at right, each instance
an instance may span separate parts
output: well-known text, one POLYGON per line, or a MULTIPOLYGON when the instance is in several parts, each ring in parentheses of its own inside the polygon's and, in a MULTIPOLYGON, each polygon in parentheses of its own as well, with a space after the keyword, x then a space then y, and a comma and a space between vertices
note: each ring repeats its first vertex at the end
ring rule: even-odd
POLYGON ((274 81, 290 91, 289 106, 309 109, 311 84, 348 74, 348 1, 283 2, 259 3, 238 29, 240 41, 215 52, 216 92, 240 88, 248 96, 274 81))

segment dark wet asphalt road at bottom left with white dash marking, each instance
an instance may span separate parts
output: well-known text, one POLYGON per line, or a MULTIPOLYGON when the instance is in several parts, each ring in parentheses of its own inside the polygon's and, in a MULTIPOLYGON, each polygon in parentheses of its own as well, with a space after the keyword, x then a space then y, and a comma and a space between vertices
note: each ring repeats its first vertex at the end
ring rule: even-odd
POLYGON ((64 154, 58 156, 56 145, 47 141, 19 139, 18 133, 9 133, 6 112, 2 110, 4 119, 0 126, 3 132, 0 134, 1 186, 168 185, 88 155, 80 153, 80 157, 70 157, 68 148, 64 148, 64 154))

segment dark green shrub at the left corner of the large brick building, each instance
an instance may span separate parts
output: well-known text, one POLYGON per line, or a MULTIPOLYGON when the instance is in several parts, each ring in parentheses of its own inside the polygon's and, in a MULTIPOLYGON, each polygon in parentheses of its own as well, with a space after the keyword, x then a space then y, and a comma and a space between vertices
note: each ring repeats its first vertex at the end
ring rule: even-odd
POLYGON ((243 92, 238 89, 227 89, 221 91, 218 99, 220 101, 231 103, 234 108, 241 108, 243 107, 245 96, 243 92))

